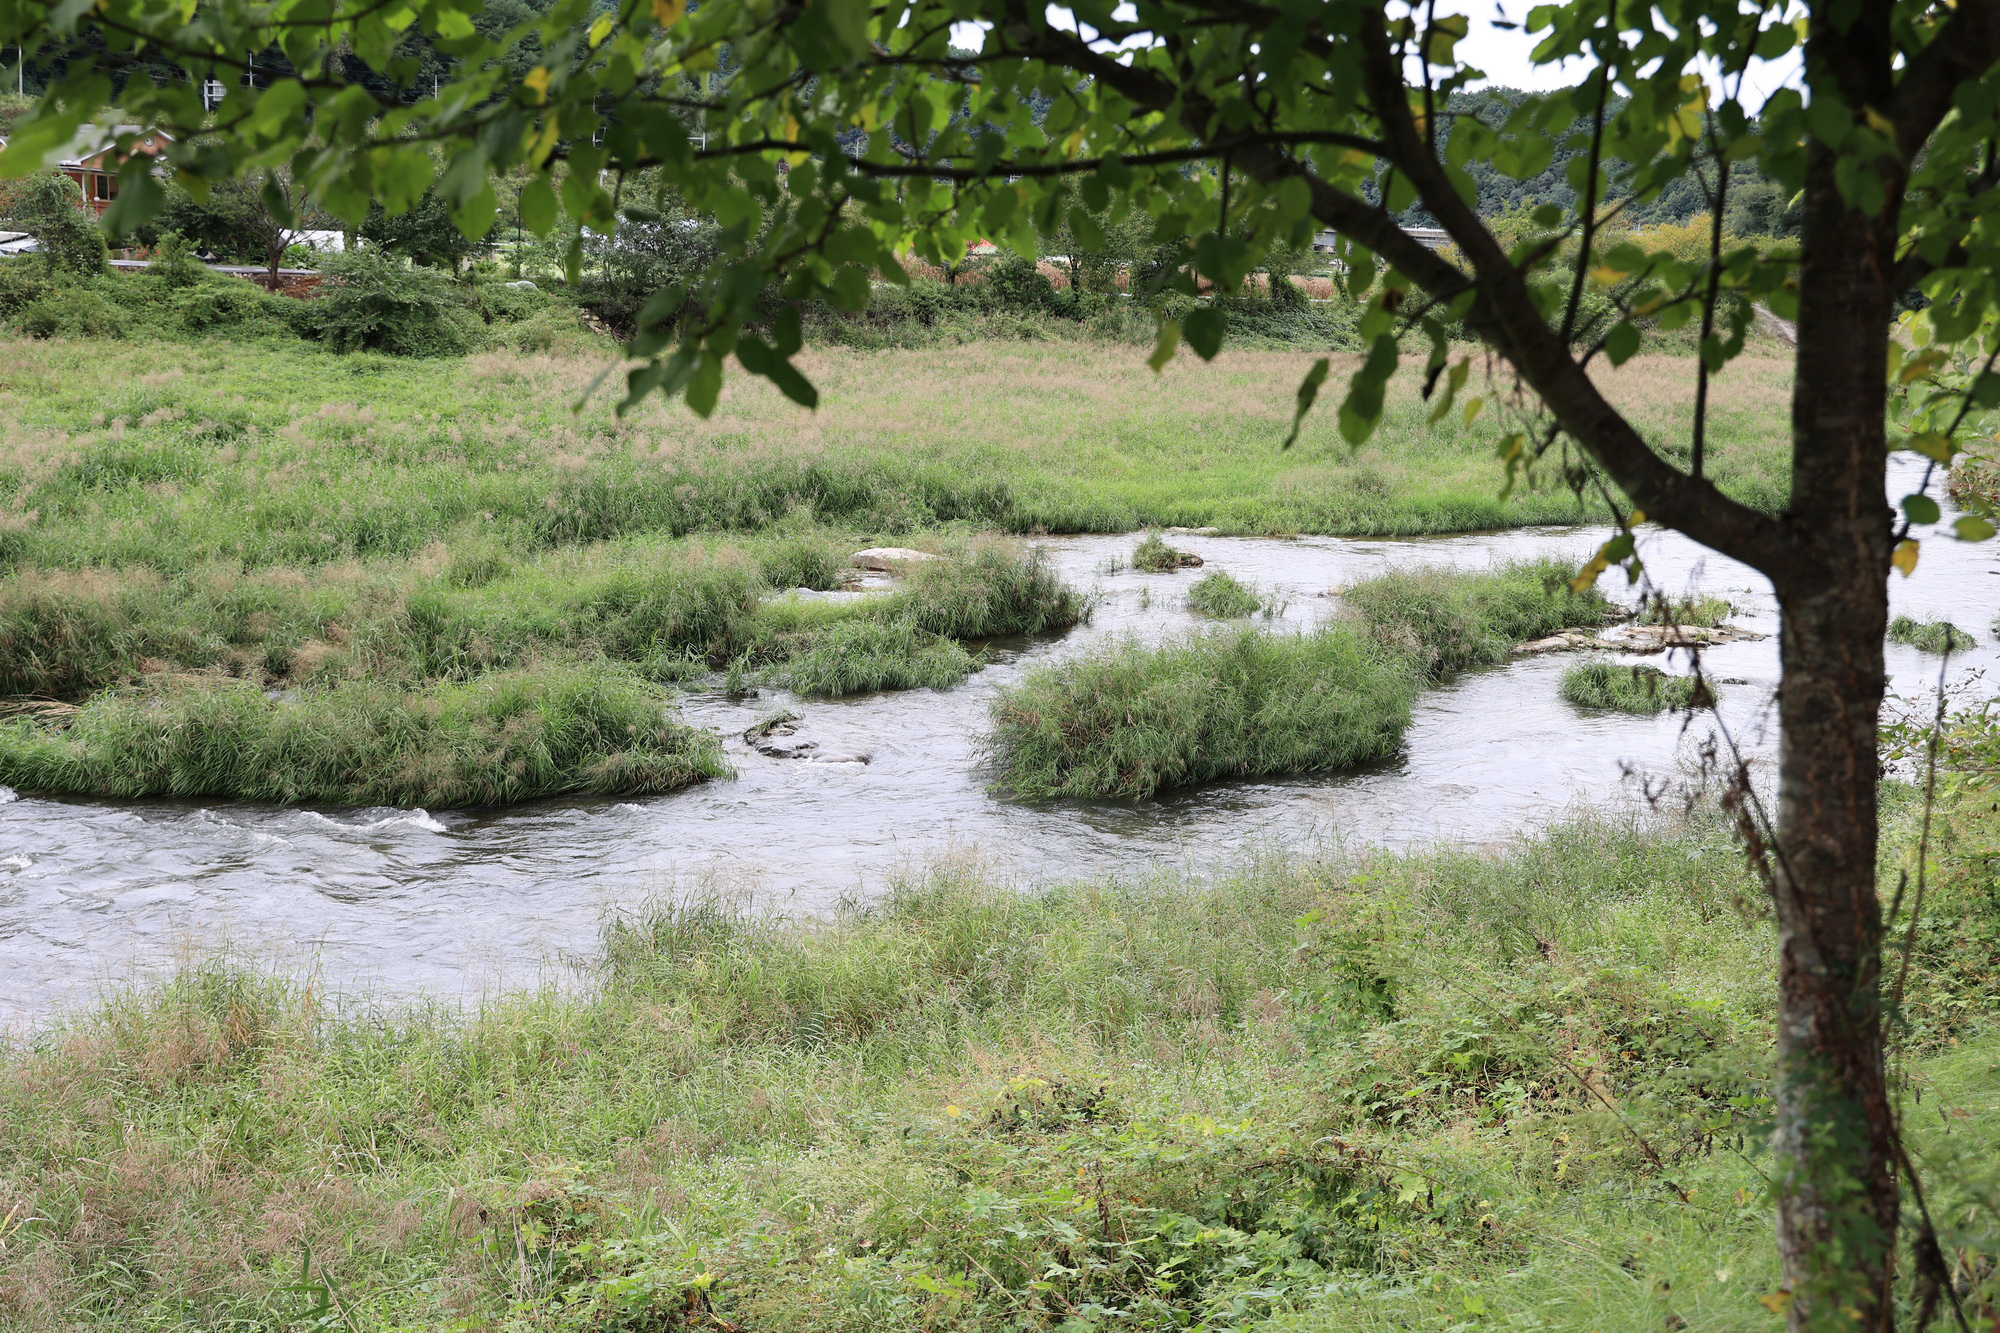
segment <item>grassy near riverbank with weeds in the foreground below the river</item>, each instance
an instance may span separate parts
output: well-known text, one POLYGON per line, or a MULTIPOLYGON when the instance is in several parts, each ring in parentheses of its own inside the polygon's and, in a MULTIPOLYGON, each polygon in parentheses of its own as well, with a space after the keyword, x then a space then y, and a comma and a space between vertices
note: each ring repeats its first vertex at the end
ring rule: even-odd
MULTIPOLYGON (((1932 895, 1910 1133, 1986 1253, 1992 905, 1950 853, 1932 895)), ((200 965, 0 1057, 0 1309, 1776 1329, 1770 967, 1722 827, 1612 817, 1218 881, 940 865, 820 925, 684 901, 608 927, 594 993, 472 1013, 200 965)))

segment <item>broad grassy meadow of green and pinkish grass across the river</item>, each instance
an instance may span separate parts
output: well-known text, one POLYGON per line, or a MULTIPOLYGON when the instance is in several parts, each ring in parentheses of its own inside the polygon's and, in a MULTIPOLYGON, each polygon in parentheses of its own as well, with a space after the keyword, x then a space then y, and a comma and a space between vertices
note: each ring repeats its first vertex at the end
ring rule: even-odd
MULTIPOLYGON (((980 532, 1586 514, 1560 488, 1496 500, 1484 430, 1426 426, 1410 386, 1390 398, 1402 428, 1360 454, 1324 422, 1276 450, 1284 352, 1180 362, 1158 384, 1114 346, 818 356, 818 414, 738 382, 702 422, 572 412, 598 368, 582 358, 10 344, 0 783, 396 805, 666 791, 724 773, 668 715, 678 681, 944 687, 976 669, 972 640, 1084 614, 980 532), (952 396, 912 394, 942 376, 952 396), (780 596, 838 586, 876 540, 956 554, 896 596, 780 596), (648 711, 664 721, 640 725, 648 711)), ((1784 374, 1740 366, 1712 404, 1714 474, 1762 504, 1780 490, 1760 376, 1784 374)), ((1656 358, 1610 378, 1670 434, 1684 376, 1656 358)), ((1364 693, 1406 693, 1386 681, 1364 693)), ((1284 763, 1352 763, 1398 731, 1284 763)))

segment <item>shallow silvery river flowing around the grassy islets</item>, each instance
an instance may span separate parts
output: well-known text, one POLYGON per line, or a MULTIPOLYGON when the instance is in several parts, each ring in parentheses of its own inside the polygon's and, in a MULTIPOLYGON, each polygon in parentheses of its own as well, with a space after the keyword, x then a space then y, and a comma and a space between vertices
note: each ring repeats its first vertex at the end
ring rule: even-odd
MULTIPOLYGON (((1206 560, 1202 572, 1222 568, 1276 592, 1284 612, 1274 628, 1304 628, 1336 610, 1330 588, 1386 568, 1544 554, 1582 562, 1604 536, 1524 528, 1172 540, 1206 560)), ((998 687, 1108 636, 1152 640, 1198 624, 1186 592, 1200 574, 1116 568, 1134 540, 1042 538, 1064 578, 1098 590, 1094 618, 1064 636, 994 644, 992 664, 958 689, 846 701, 688 695, 688 721, 728 737, 740 777, 666 797, 426 813, 64 801, 0 789, 0 1017, 46 1015, 216 947, 314 971, 346 993, 468 997, 574 975, 566 965, 594 951, 604 913, 662 893, 742 893, 824 911, 956 855, 1036 883, 1162 867, 1202 873, 1328 839, 1492 843, 1578 801, 1630 801, 1642 781, 1674 779, 1712 731, 1706 719, 1690 729, 1672 715, 1570 707, 1556 683, 1574 656, 1550 654, 1426 691, 1400 753, 1366 769, 1216 783, 1140 803, 1038 807, 994 795, 980 735, 998 687), (802 715, 792 741, 866 763, 772 759, 740 741, 780 707, 802 715)), ((1644 534, 1640 554, 1662 590, 1726 594, 1742 610, 1736 624, 1772 634, 1704 654, 1724 681, 1720 721, 1748 753, 1768 755, 1778 679, 1768 584, 1672 532, 1644 534)), ((1988 628, 2000 608, 1994 574, 1994 544, 1930 540, 1916 576, 1892 578, 1898 612, 1948 616, 1978 636, 1976 650, 1952 660, 1954 677, 2000 660, 1988 628)), ((1604 580, 1630 598, 1622 584, 1618 572, 1604 580)), ((1938 658, 1898 644, 1888 654, 1902 697, 1936 685, 1938 658)), ((1678 652, 1646 660, 1686 666, 1678 652)))

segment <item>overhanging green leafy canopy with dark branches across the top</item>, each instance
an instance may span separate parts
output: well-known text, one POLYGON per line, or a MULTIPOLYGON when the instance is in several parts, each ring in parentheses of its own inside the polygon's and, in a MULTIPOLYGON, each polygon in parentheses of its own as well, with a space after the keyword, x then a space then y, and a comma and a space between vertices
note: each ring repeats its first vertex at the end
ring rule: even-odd
MULTIPOLYGON (((1698 322, 1704 376, 1718 370, 1742 350, 1752 302, 1796 312, 1798 254, 1726 248, 1718 226, 1712 254, 1676 258, 1618 232, 1614 214, 1694 178, 1720 218, 1734 164, 1796 194, 1812 154, 1834 154, 1842 200, 1892 216, 1908 284, 1952 296, 1918 322, 1892 376, 1908 398, 1896 442, 1948 460, 1966 408, 2000 404, 1986 356, 2000 346, 2000 256, 1982 222, 2000 134, 1988 10, 1544 4, 1528 16, 1536 58, 1580 56, 1594 74, 1512 104, 1460 96, 1454 112, 1480 72, 1458 58, 1468 20, 1434 4, 1084 0, 1056 22, 1026 0, 558 0, 508 10, 508 24, 482 0, 4 0, 0 42, 66 64, 16 124, 0 172, 40 168, 114 100, 120 118, 178 132, 168 160, 184 188, 262 176, 282 216, 288 178, 348 226, 434 190, 466 236, 484 236, 500 180, 536 234, 564 214, 604 234, 654 216, 660 200, 636 184, 646 172, 714 216, 720 244, 698 278, 638 312, 628 402, 682 394, 704 414, 732 358, 816 402, 792 366, 796 312, 768 318, 766 306, 760 322, 774 286, 858 310, 872 282, 906 282, 902 256, 954 264, 982 236, 1032 254, 1056 232, 1102 248, 1106 228, 1136 220, 1182 258, 1160 268, 1164 286, 1192 296, 1236 290, 1274 252, 1332 228, 1350 288, 1368 298, 1370 352, 1338 408, 1350 442, 1378 422, 1404 344, 1428 346, 1440 414, 1480 410, 1464 398, 1472 364, 1454 364, 1446 342, 1462 320, 1548 404, 1502 420, 1510 484, 1552 448, 1582 484, 1574 440, 1652 516, 1768 568, 1774 534, 1704 482, 1700 438, 1692 468, 1670 464, 1580 368, 1632 356, 1650 328, 1698 322), (978 52, 952 44, 966 24, 984 30, 978 52), (1810 98, 1780 90, 1752 116, 1744 72, 1814 24, 1880 26, 1882 74, 1868 76, 1880 96, 1808 60, 1810 98), (450 76, 420 94, 440 54, 450 76), (212 112, 198 92, 208 78, 228 88, 212 112), (1502 242, 1472 208, 1474 174, 1528 180, 1558 150, 1578 206, 1542 206, 1502 242), (1456 260, 1398 226, 1412 206, 1452 232, 1456 260)), ((134 158, 108 224, 132 228, 162 200, 134 158)), ((1152 364, 1182 344, 1214 356, 1226 320, 1210 304, 1162 318, 1152 364)), ((1328 372, 1322 362, 1300 386, 1300 416, 1328 372)), ((1936 518, 1924 494, 1904 510, 1912 524, 1936 518)))

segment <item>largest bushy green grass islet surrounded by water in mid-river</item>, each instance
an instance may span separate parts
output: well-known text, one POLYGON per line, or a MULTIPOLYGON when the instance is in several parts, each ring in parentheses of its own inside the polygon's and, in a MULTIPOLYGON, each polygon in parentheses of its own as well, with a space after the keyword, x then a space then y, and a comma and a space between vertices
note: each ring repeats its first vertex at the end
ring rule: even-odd
POLYGON ((1032 801, 1150 797, 1380 759, 1402 739, 1416 689, 1404 656, 1346 626, 1128 640, 1004 691, 990 745, 1006 785, 1032 801))

